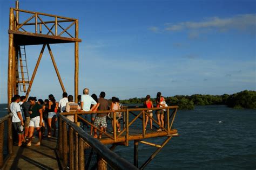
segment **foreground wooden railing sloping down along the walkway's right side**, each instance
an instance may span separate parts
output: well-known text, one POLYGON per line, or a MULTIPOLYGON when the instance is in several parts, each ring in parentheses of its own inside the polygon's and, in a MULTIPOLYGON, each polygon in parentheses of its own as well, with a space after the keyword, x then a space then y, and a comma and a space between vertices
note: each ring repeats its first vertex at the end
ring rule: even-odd
POLYGON ((138 169, 63 115, 59 115, 57 147, 63 169, 138 169))

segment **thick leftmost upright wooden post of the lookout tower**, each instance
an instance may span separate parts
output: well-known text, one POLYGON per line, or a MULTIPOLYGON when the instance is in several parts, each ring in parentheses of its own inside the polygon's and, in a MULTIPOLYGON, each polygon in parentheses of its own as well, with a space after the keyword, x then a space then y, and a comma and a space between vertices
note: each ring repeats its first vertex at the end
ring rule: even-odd
MULTIPOLYGON (((10 8, 9 30, 14 30, 14 9, 10 8)), ((13 89, 13 72, 14 72, 14 34, 9 34, 9 60, 8 60, 8 109, 14 92, 13 89)))

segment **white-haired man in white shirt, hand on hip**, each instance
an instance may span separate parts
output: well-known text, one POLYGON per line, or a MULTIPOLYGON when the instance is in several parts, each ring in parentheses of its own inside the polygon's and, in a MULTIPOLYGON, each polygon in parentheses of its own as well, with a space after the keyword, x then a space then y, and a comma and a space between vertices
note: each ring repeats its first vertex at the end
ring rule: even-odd
MULTIPOLYGON (((83 90, 83 95, 81 96, 81 110, 82 111, 92 111, 97 105, 97 102, 91 97, 89 96, 89 89, 85 88, 83 90), (92 108, 91 108, 91 105, 92 108)), ((85 119, 86 119, 87 115, 85 115, 85 119)), ((85 125, 85 123, 84 123, 85 125)), ((89 126, 86 124, 87 128, 89 128, 89 126)))

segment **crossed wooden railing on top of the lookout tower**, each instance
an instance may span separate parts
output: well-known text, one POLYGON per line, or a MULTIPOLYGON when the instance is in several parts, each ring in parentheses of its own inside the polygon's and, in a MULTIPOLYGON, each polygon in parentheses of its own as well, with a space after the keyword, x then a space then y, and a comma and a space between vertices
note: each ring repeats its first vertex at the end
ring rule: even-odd
POLYGON ((50 15, 42 12, 33 12, 33 11, 27 11, 27 10, 21 10, 21 9, 14 9, 14 8, 10 9, 10 15, 15 16, 14 31, 22 31, 22 32, 30 32, 30 33, 36 33, 36 34, 46 34, 46 35, 50 34, 51 36, 62 36, 63 33, 66 33, 70 38, 78 38, 78 29, 77 29, 78 19, 50 15), (22 16, 22 13, 25 13, 25 15, 22 16), (31 16, 29 18, 26 18, 28 14, 31 14, 31 16), (24 17, 25 17, 25 21, 23 23, 19 23, 21 18, 24 18, 24 17), (43 17, 50 17, 53 19, 46 21, 44 20, 43 17), (34 20, 34 22, 31 23, 30 22, 31 20, 34 20), (69 25, 63 26, 62 23, 68 23, 69 25), (34 29, 30 31, 26 31, 25 26, 31 26, 31 25, 35 26, 34 29), (60 32, 58 32, 58 27, 61 29, 60 32), (43 28, 45 30, 43 30, 43 28), (71 34, 70 32, 68 32, 68 30, 71 30, 71 29, 73 29, 75 33, 71 34))

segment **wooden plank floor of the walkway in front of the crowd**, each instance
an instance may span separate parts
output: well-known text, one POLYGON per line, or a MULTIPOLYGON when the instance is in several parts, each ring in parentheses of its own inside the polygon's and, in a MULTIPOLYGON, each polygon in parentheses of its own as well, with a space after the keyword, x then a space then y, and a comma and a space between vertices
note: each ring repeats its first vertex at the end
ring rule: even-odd
POLYGON ((35 146, 37 140, 33 139, 31 147, 14 146, 5 169, 59 169, 55 153, 57 138, 43 139, 41 146, 35 146))

